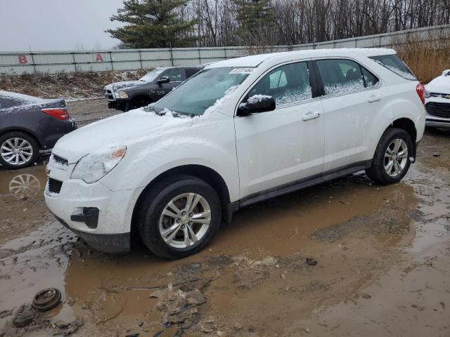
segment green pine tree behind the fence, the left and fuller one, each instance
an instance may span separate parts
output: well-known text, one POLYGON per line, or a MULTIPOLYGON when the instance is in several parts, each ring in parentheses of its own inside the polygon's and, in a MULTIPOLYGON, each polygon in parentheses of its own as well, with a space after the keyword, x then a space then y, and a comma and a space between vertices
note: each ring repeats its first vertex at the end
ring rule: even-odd
POLYGON ((178 8, 188 0, 124 0, 111 21, 127 25, 108 29, 112 37, 128 48, 167 48, 191 46, 195 37, 189 34, 195 20, 182 20, 178 8))

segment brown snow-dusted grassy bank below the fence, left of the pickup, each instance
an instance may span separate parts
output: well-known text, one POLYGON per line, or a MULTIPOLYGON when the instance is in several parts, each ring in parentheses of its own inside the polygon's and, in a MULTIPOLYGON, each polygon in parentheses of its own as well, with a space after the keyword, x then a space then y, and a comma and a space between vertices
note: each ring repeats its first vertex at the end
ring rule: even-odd
POLYGON ((0 90, 25 93, 40 98, 94 98, 103 96, 105 85, 139 79, 146 72, 148 70, 2 76, 0 90))

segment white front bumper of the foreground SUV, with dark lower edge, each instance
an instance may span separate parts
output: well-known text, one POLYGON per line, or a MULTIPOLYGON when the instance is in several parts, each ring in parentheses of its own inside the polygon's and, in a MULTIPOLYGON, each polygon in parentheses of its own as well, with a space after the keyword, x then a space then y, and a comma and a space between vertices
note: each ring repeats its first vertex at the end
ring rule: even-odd
POLYGON ((141 189, 112 191, 100 182, 86 184, 82 180, 58 177, 62 172, 51 169, 54 180, 63 181, 58 193, 46 184, 45 201, 54 216, 84 239, 92 248, 105 253, 124 253, 131 249, 131 218, 141 189), (58 179, 59 178, 59 179, 58 179), (97 209, 96 223, 83 218, 86 209, 97 209))

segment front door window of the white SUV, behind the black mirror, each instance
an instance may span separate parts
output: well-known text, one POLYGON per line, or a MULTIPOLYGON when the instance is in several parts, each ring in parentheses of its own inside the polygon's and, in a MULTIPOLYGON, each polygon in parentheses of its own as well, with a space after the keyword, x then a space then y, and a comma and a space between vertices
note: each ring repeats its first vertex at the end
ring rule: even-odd
POLYGON ((311 82, 307 62, 282 65, 266 74, 248 93, 253 95, 269 95, 276 106, 300 103, 312 98, 311 82))

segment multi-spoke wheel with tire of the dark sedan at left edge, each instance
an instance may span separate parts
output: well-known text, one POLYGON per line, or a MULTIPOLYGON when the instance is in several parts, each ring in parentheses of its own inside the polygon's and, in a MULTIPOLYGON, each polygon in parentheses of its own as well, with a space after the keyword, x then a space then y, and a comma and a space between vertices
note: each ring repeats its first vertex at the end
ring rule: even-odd
POLYGON ((11 132, 0 136, 0 164, 8 169, 30 166, 39 156, 37 141, 26 133, 11 132))

